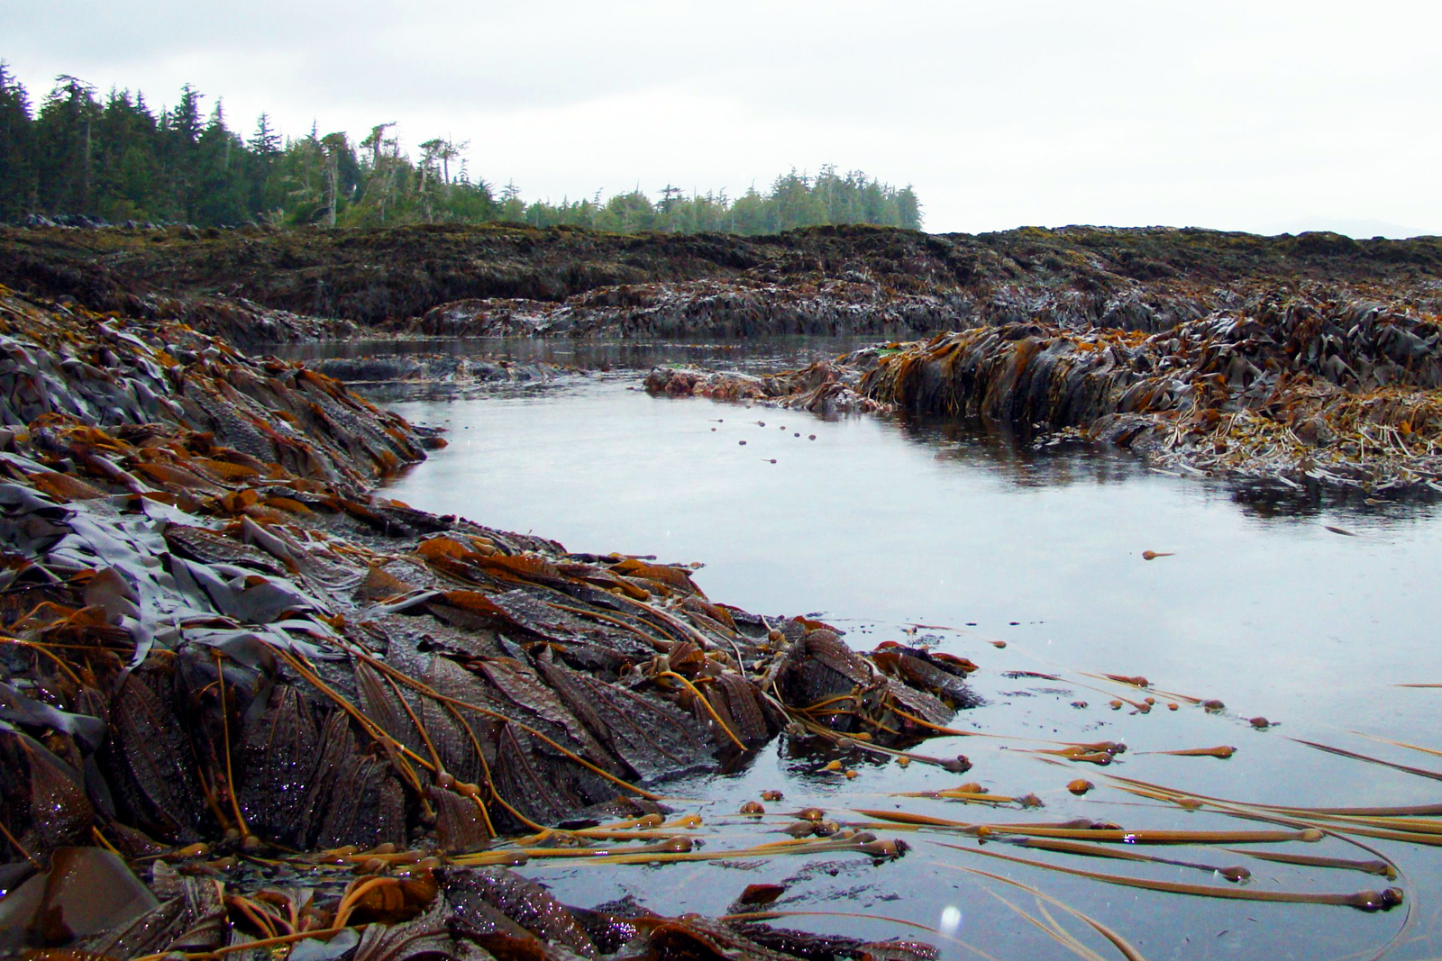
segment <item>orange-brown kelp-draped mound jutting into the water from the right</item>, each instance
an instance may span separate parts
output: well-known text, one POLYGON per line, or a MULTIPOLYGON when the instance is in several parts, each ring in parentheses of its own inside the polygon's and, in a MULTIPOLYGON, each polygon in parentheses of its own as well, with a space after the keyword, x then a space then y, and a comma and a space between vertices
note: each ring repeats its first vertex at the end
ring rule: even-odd
POLYGON ((656 369, 652 393, 982 418, 1164 470, 1442 490, 1442 327, 1384 291, 1266 288, 1161 333, 1040 316, 771 376, 656 369))

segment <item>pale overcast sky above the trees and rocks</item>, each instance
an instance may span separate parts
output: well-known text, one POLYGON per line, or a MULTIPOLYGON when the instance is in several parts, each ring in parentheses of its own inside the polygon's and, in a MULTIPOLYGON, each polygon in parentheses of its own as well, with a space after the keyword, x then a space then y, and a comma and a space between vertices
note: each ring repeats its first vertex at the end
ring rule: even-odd
POLYGON ((1442 4, 0 0, 0 58, 248 137, 469 141, 528 199, 911 184, 926 229, 1442 235, 1442 4))

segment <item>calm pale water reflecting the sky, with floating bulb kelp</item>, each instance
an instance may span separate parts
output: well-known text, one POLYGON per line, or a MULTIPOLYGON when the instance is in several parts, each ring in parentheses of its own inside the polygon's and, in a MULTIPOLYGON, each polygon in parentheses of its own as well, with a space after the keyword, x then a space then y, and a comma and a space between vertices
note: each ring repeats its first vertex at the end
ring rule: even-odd
MULTIPOLYGON (((904 805, 957 820, 1087 817, 1171 828, 1257 826, 1135 798, 1105 775, 1255 803, 1442 801, 1436 781, 1289 739, 1442 768, 1436 758, 1361 736, 1442 748, 1442 690, 1393 686, 1442 681, 1442 598, 1435 588, 1442 529, 1432 506, 1364 504, 1360 497, 1343 503, 1177 478, 1125 455, 1077 445, 1037 451, 970 428, 880 418, 823 422, 797 412, 653 399, 633 389, 637 379, 581 377, 544 392, 398 403, 412 421, 446 425, 450 447, 389 493, 425 510, 554 537, 571 550, 699 560, 705 568, 696 582, 711 599, 774 615, 819 612, 848 630, 858 647, 907 640, 904 631, 916 631, 982 667, 972 683, 988 705, 956 726, 1012 738, 952 738, 920 748, 966 754, 975 768, 963 777, 844 756, 858 771, 845 781, 820 771, 831 755, 793 756, 786 745, 773 745, 735 774, 668 785, 689 798, 678 807, 702 813, 714 846, 777 837, 757 831, 789 818, 758 828, 728 815, 764 788, 786 791, 784 803, 769 805, 777 811, 816 803, 841 820, 846 807, 904 805), (1174 556, 1148 562, 1144 550, 1174 556), (1227 712, 1113 712, 1106 703, 1126 692, 1083 671, 1145 674, 1169 692, 1220 699, 1227 712), (1079 700, 1089 706, 1073 707, 1079 700), (1246 719, 1255 715, 1280 725, 1253 730, 1246 719), (1131 751, 1099 771, 1022 754, 1018 748, 1032 745, 1017 738, 1113 739, 1131 751), (1237 746, 1236 756, 1142 754, 1221 743, 1237 746), (1071 797, 1064 785, 1077 777, 1099 790, 1071 797), (1047 808, 1035 815, 986 813, 887 797, 972 779, 999 794, 1035 792, 1047 808)), ((1407 872, 1402 886, 1412 922, 1403 929, 1402 909, 1364 915, 1162 895, 913 840, 907 857, 877 867, 852 854, 828 862, 531 870, 577 903, 636 893, 658 911, 724 912, 746 885, 786 880, 779 908, 864 912, 932 926, 955 909, 960 913, 945 916, 957 921, 956 937, 996 958, 1077 955, 1017 912, 1037 915, 1034 898, 965 869, 1035 885, 1118 929, 1148 958, 1371 957, 1394 937, 1389 957, 1442 954, 1435 849, 1379 841, 1407 872)), ((1296 847, 1371 856, 1334 840, 1288 850, 1296 847)), ((1259 889, 1384 886, 1354 872, 1268 864, 1206 849, 1159 853, 1244 863, 1259 889)), ((1060 863, 1208 883, 1207 875, 1180 867, 1060 863)), ((895 924, 865 919, 780 924, 865 937, 906 934, 895 924)), ((1067 926, 1102 957, 1119 957, 1084 926, 1067 926)), ((943 945, 946 957, 983 957, 943 945)))

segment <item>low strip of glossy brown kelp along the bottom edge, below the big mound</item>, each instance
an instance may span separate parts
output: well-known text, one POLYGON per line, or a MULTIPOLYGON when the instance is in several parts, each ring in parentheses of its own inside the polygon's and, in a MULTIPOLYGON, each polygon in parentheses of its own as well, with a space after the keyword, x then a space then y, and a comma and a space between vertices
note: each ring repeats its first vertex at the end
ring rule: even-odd
POLYGON ((362 875, 323 892, 281 883, 229 885, 186 873, 190 867, 186 859, 153 862, 147 889, 110 852, 66 849, 49 870, 0 902, 6 922, 0 949, 65 945, 91 958, 127 958, 284 947, 306 957, 398 961, 937 957, 933 947, 916 941, 865 942, 758 922, 665 918, 630 905, 570 908, 505 867, 411 863, 394 875, 362 875))

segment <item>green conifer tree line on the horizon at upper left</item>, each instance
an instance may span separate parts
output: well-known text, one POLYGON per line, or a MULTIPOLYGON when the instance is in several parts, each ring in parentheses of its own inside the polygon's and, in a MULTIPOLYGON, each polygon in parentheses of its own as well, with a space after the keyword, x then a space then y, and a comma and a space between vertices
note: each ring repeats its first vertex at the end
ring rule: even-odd
POLYGON ((574 225, 633 233, 776 233, 799 226, 874 223, 921 229, 916 192, 859 170, 795 169, 770 189, 738 197, 685 193, 666 184, 658 199, 629 193, 559 203, 526 202, 515 183, 499 192, 474 176, 469 143, 433 138, 420 156, 401 148, 397 124, 376 124, 352 143, 345 133, 283 137, 261 114, 249 138, 226 125, 222 101, 203 109, 186 84, 174 107, 151 109, 143 94, 104 97, 59 76, 32 108, 25 86, 0 62, 0 222, 27 215, 82 213, 111 223, 183 222, 226 226, 379 226, 516 222, 574 225))

